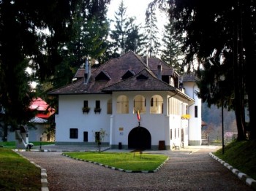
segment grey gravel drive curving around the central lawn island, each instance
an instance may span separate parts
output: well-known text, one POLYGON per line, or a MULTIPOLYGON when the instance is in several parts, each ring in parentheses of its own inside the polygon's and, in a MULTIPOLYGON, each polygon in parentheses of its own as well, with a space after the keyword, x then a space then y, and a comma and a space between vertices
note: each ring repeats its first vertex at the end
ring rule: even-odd
POLYGON ((61 152, 20 152, 47 170, 48 188, 66 190, 252 190, 214 160, 212 149, 164 152, 170 160, 156 173, 125 173, 70 159, 61 152), (187 152, 188 153, 188 152, 187 152))

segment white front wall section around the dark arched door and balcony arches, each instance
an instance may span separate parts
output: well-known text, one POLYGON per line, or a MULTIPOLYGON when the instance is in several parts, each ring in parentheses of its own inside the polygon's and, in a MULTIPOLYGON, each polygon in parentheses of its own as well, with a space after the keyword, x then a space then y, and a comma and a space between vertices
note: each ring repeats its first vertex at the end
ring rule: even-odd
POLYGON ((137 115, 133 114, 133 99, 135 95, 143 95, 146 98, 146 114, 140 114, 140 127, 146 128, 151 134, 151 145, 158 145, 159 141, 165 140, 165 129, 168 124, 165 122, 166 103, 165 93, 159 92, 126 92, 113 93, 113 144, 121 142, 128 144, 129 132, 138 127, 137 115), (129 114, 116 114, 116 99, 119 95, 127 95, 129 97, 129 114), (164 101, 163 114, 150 114, 150 100, 153 95, 161 95, 164 101), (119 128, 124 130, 120 131, 119 128))

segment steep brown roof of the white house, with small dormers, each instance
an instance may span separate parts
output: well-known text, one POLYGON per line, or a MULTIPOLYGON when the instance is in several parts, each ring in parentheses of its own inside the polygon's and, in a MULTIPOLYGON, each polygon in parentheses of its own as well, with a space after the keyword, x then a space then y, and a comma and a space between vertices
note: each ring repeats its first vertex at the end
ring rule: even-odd
POLYGON ((173 76, 175 73, 173 68, 167 66, 158 58, 148 58, 148 62, 146 62, 146 58, 129 51, 121 57, 114 58, 91 71, 91 77, 87 84, 83 77, 84 69, 78 69, 75 74, 75 77, 78 77, 77 82, 60 87, 49 94, 94 94, 109 93, 117 90, 176 90, 175 87, 157 79, 157 66, 159 63, 162 66, 162 75, 173 76), (127 71, 132 71, 135 76, 122 79, 127 71), (106 77, 100 77, 102 74, 105 74, 106 77), (144 75, 144 77, 140 75, 144 75))

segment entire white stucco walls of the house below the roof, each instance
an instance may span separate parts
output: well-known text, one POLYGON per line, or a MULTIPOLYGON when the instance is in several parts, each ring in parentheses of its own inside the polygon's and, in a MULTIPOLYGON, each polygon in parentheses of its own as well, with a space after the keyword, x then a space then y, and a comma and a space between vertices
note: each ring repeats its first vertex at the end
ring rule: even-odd
MULTIPOLYGON (((159 141, 165 141, 165 145, 169 148, 173 147, 173 143, 178 142, 181 145, 181 128, 184 128, 184 139, 195 137, 193 133, 189 135, 188 122, 182 122, 180 115, 167 114, 167 92, 115 92, 112 95, 59 95, 59 114, 56 114, 56 143, 58 142, 83 142, 83 132, 88 132, 88 142, 94 143, 94 133, 101 128, 104 129, 108 136, 103 142, 110 145, 128 145, 128 136, 133 128, 138 127, 138 119, 136 113, 133 113, 133 104, 135 95, 143 95, 146 99, 146 113, 140 114, 140 127, 146 128, 151 135, 151 145, 157 147, 159 141), (119 95, 127 95, 129 98, 129 114, 116 113, 116 100, 119 95), (163 113, 150 114, 150 101, 153 95, 160 95, 163 98, 163 113), (112 114, 107 114, 108 100, 112 98, 112 114), (87 100, 90 112, 82 112, 83 101, 87 100), (95 101, 100 101, 101 113, 94 113, 95 101), (78 139, 69 139, 69 129, 78 128, 78 139), (176 129, 176 137, 175 137, 176 129), (172 130, 173 139, 170 139, 170 130, 172 130)), ((200 106, 198 106, 200 108, 200 106)), ((189 110, 189 112, 191 112, 189 110)), ((200 113, 198 113, 200 116, 200 113)), ((192 121, 195 125, 197 120, 192 121)), ((189 124, 190 125, 190 124, 189 124)), ((195 125, 195 133, 198 133, 197 124, 195 125)), ((200 135, 200 133, 199 133, 200 135)), ((199 136, 200 137, 200 136, 199 136)), ((185 140, 187 144, 189 141, 185 140)))

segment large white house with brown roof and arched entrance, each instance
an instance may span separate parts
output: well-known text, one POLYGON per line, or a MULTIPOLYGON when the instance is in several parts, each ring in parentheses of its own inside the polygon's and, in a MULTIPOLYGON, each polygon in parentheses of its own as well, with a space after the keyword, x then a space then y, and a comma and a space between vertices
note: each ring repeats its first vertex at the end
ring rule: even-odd
POLYGON ((107 133, 101 142, 112 149, 201 144, 195 80, 158 58, 129 51, 93 70, 86 61, 75 78, 49 93, 59 96, 56 144, 95 144, 99 132, 107 133))

